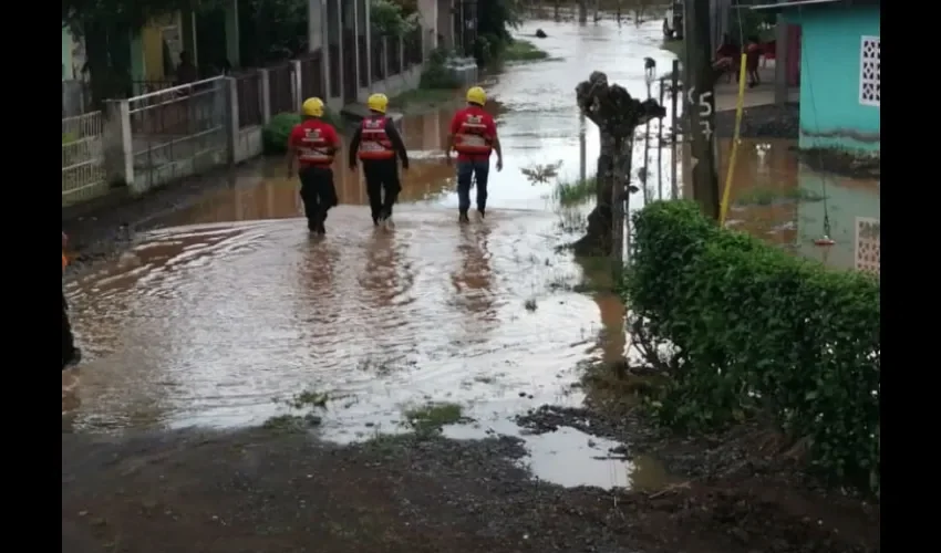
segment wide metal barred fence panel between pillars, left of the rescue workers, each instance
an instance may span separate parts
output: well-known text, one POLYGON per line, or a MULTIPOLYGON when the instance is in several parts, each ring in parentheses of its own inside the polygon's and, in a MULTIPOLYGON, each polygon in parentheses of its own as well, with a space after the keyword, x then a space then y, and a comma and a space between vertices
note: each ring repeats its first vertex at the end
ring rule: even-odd
POLYGON ((127 101, 136 186, 151 189, 226 163, 227 84, 220 76, 127 101))

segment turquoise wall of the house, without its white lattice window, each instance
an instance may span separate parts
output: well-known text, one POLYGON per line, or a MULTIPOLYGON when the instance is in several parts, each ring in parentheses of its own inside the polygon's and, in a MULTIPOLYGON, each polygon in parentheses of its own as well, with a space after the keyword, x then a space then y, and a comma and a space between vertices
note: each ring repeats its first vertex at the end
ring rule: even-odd
POLYGON ((802 27, 800 147, 878 153, 880 107, 859 98, 862 36, 879 36, 878 7, 804 9, 787 13, 802 27))

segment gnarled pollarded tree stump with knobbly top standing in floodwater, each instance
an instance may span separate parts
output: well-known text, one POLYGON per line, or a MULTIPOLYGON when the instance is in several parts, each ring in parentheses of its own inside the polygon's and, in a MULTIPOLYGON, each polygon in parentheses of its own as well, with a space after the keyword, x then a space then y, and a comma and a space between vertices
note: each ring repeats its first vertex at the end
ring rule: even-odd
MULTIPOLYGON (((637 127, 653 118, 662 118, 666 109, 655 100, 643 102, 617 84, 608 83, 608 75, 594 71, 576 87, 581 113, 598 126, 601 152, 598 156, 596 179, 597 205, 588 216, 588 231, 575 244, 579 255, 607 255, 612 251, 613 197, 616 182, 619 194, 629 194, 630 148, 637 127)), ((630 187, 630 192, 638 189, 630 187)))

